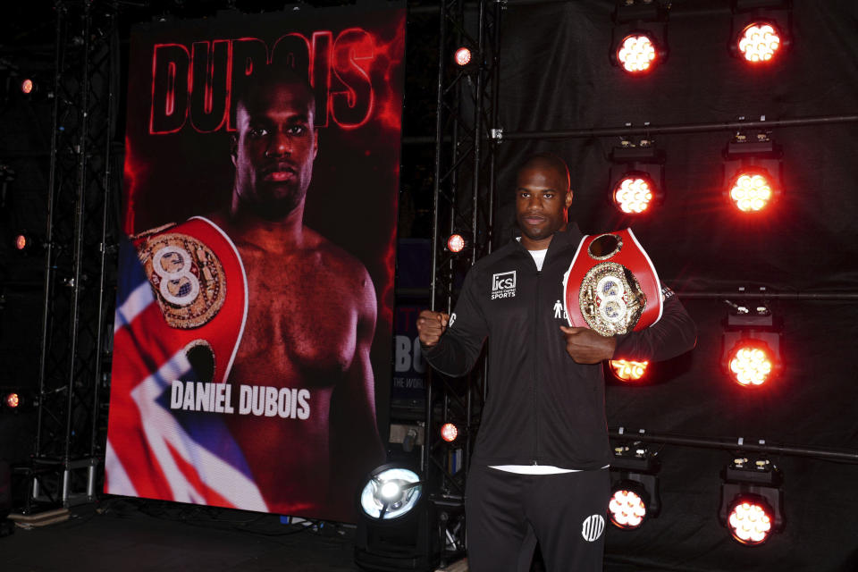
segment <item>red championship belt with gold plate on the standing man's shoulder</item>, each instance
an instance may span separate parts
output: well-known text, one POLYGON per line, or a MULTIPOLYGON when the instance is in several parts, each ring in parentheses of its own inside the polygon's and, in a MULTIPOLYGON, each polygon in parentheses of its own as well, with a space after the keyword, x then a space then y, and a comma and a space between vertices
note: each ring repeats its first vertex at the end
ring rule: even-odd
POLYGON ((563 275, 572 327, 605 337, 643 330, 661 318, 659 275, 631 229, 587 235, 563 275))

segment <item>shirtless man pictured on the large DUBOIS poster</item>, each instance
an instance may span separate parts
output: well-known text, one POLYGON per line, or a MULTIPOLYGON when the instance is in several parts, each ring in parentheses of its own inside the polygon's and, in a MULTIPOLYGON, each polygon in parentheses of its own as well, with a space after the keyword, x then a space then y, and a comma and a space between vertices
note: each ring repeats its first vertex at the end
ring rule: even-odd
POLYGON ((231 206, 213 217, 248 283, 229 383, 307 390, 308 415, 231 416, 231 433, 269 509, 353 520, 360 480, 383 461, 374 286, 355 257, 303 223, 318 152, 311 88, 273 67, 257 73, 237 101, 231 206))

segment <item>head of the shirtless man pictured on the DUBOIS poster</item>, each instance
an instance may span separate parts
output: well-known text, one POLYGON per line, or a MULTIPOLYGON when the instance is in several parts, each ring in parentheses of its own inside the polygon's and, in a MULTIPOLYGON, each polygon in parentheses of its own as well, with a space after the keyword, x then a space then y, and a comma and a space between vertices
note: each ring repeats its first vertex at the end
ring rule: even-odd
POLYGON ((290 214, 307 194, 318 150, 312 95, 299 84, 257 89, 236 111, 235 189, 265 218, 290 214))

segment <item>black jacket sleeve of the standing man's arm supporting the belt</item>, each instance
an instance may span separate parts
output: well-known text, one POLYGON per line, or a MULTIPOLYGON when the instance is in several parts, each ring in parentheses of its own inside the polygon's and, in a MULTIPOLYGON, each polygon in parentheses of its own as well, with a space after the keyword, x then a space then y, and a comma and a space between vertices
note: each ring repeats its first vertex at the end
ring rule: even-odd
POLYGON ((661 292, 664 295, 661 319, 640 332, 618 335, 614 359, 660 361, 694 349, 697 326, 673 290, 664 287, 661 292))

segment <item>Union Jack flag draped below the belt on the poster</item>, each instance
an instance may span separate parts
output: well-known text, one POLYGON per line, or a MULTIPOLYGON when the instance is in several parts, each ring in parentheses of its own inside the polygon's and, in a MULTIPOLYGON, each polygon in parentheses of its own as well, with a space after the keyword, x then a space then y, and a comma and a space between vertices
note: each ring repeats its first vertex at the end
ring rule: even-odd
POLYGON ((105 492, 267 510, 223 420, 171 410, 172 381, 195 377, 184 343, 164 335, 170 328, 128 240, 120 268, 114 355, 122 358, 114 359, 105 492))

